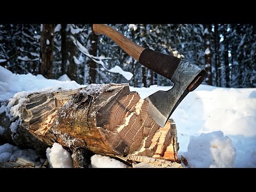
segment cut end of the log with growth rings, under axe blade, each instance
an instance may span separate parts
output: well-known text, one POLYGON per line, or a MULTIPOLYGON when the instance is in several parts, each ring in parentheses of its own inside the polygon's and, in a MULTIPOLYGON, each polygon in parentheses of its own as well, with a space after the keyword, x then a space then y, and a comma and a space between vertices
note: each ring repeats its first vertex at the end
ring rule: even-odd
POLYGON ((178 159, 173 120, 160 127, 148 114, 148 102, 137 92, 130 93, 127 88, 116 92, 98 111, 96 124, 110 146, 121 155, 178 159))

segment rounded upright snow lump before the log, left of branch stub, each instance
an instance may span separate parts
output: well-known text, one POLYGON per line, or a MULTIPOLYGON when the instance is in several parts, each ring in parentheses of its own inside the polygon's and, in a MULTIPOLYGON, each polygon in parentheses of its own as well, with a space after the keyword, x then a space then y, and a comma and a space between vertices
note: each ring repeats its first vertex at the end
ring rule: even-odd
POLYGON ((52 148, 47 148, 46 156, 53 168, 73 168, 73 160, 70 153, 63 149, 59 143, 53 143, 52 148))

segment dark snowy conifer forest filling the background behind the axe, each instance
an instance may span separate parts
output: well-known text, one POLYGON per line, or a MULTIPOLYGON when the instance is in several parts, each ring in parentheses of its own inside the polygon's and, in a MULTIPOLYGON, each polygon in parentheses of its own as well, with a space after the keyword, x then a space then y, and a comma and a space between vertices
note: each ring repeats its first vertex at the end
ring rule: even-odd
MULTIPOLYGON (((210 75, 204 84, 256 87, 256 25, 108 25, 143 47, 205 68, 210 75)), ((140 65, 107 36, 95 35, 89 24, 0 25, 0 65, 12 73, 51 79, 66 74, 79 84, 172 84, 140 65)))

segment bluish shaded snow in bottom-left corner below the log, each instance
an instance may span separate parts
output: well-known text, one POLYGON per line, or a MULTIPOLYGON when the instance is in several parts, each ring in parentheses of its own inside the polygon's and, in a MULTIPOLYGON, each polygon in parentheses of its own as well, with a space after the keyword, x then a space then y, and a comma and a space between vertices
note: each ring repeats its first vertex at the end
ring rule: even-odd
POLYGON ((28 161, 35 162, 38 157, 33 149, 20 149, 19 147, 5 143, 0 146, 0 162, 14 161, 17 158, 24 158, 28 161))

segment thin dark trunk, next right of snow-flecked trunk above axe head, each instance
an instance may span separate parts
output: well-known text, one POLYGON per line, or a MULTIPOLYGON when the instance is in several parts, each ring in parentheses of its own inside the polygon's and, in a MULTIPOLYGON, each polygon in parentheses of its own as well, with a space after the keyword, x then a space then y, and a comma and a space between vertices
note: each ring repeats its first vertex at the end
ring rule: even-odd
POLYGON ((218 24, 214 24, 214 49, 215 49, 215 75, 216 85, 221 86, 221 68, 220 68, 220 35, 218 24))

